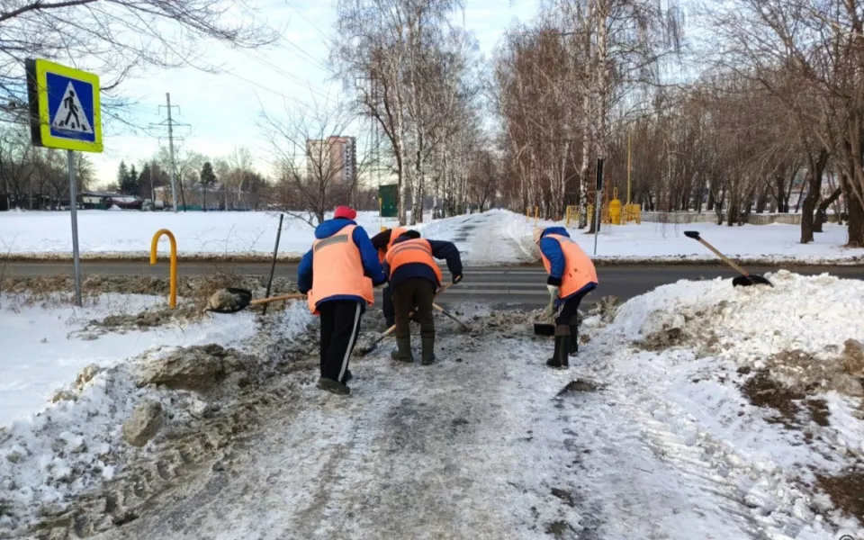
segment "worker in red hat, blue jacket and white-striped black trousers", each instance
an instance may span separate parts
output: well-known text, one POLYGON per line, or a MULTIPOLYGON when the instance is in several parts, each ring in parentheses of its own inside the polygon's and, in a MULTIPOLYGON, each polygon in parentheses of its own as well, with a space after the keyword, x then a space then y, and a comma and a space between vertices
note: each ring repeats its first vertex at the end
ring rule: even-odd
POLYGON ((348 358, 360 332, 360 318, 374 303, 373 287, 386 283, 378 252, 357 212, 339 206, 332 220, 315 229, 315 241, 297 269, 297 288, 321 316, 321 390, 351 392, 348 358))

